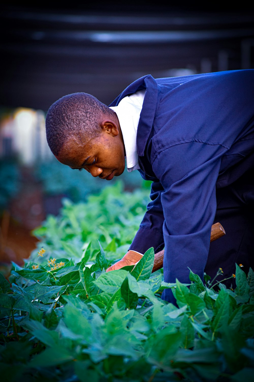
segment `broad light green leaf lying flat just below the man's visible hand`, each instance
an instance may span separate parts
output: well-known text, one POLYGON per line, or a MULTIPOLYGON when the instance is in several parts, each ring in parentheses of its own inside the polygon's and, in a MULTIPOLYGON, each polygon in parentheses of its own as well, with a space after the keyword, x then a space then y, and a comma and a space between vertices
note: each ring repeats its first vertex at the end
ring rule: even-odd
POLYGON ((112 270, 111 272, 101 274, 96 280, 94 280, 94 284, 104 292, 111 293, 113 295, 118 289, 121 288, 123 280, 125 280, 127 274, 128 272, 126 270, 112 270))

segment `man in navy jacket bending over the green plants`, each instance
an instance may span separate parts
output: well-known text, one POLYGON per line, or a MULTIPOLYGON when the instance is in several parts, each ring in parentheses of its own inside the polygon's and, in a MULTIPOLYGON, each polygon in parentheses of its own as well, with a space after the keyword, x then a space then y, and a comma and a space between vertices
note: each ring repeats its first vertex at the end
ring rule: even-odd
MULTIPOLYGON (((130 84, 110 106, 75 93, 46 116, 47 141, 59 162, 112 180, 126 165, 152 181, 147 212, 123 259, 136 264, 165 247, 165 282, 189 283, 254 256, 254 70, 154 79, 130 84), (211 226, 226 235, 210 245, 211 226)), ((219 279, 219 278, 218 278, 219 279)), ((231 283, 231 280, 230 280, 231 283)), ((171 290, 162 298, 174 301, 171 290)))

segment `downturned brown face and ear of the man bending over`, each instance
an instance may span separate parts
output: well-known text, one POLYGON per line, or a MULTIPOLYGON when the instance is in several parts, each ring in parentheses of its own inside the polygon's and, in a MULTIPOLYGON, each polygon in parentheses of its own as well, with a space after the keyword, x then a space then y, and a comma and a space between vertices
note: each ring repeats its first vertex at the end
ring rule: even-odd
POLYGON ((85 169, 92 176, 112 180, 125 169, 125 149, 121 133, 102 129, 98 137, 84 142, 70 137, 56 159, 73 169, 85 169))

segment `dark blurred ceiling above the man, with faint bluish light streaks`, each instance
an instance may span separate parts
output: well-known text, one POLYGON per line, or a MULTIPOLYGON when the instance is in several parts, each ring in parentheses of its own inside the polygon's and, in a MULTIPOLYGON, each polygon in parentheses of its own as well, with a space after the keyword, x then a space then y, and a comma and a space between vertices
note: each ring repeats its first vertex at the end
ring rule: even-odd
POLYGON ((0 24, 5 107, 46 111, 73 92, 109 104, 145 74, 254 68, 249 10, 218 13, 147 2, 128 8, 105 2, 71 9, 9 5, 0 24))

